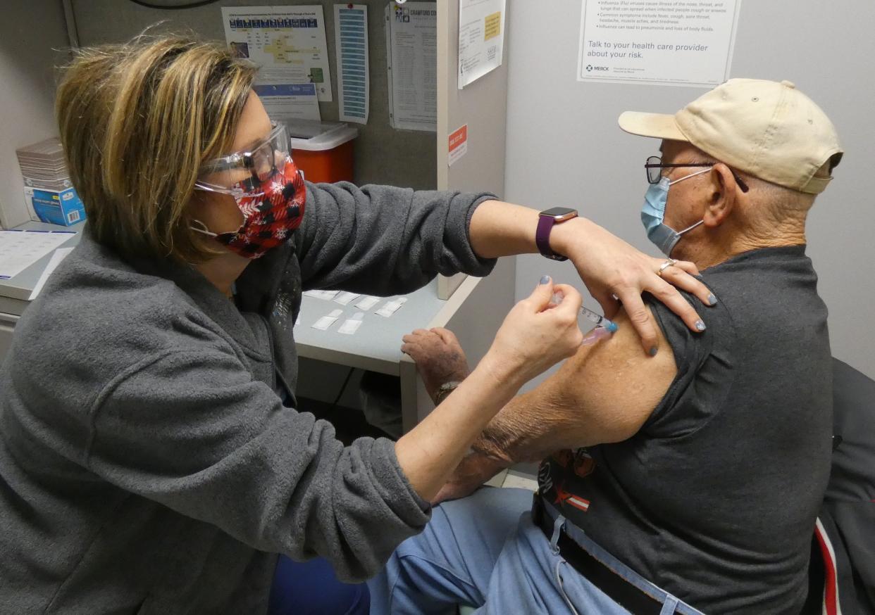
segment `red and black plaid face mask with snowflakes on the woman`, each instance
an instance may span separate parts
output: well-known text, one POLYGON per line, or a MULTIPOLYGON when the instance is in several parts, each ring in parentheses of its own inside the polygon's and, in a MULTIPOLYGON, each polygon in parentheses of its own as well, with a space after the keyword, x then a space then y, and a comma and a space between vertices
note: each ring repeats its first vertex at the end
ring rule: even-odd
POLYGON ((257 259, 282 244, 301 225, 307 190, 304 178, 290 156, 274 172, 254 185, 253 179, 240 183, 232 195, 243 214, 243 224, 232 232, 212 233, 228 249, 248 259, 257 259), (245 184, 245 185, 244 185, 245 184))

